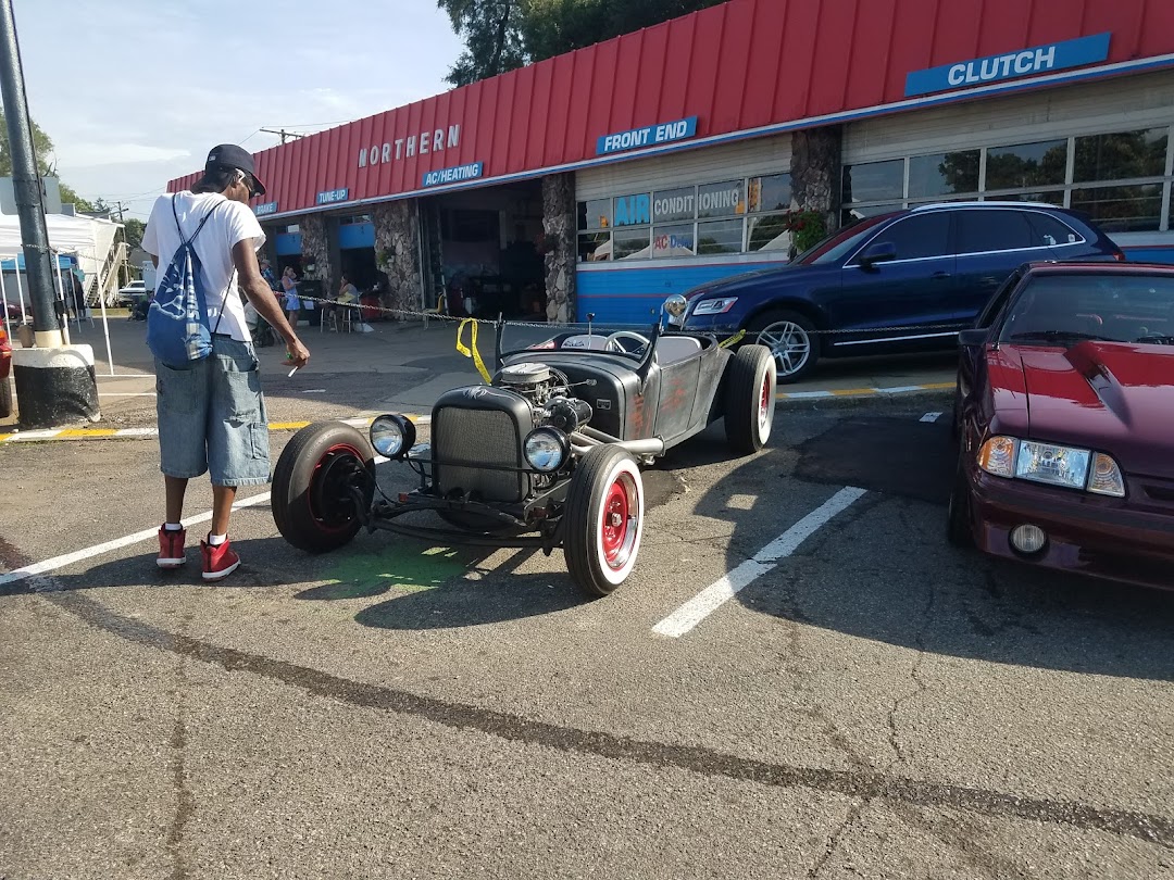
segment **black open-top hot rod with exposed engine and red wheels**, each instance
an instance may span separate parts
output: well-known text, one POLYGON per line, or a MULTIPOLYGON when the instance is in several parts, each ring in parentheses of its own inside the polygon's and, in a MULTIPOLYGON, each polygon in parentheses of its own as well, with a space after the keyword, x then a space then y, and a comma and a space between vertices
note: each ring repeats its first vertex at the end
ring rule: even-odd
POLYGON ((770 436, 770 351, 744 345, 733 353, 709 334, 668 332, 666 313, 683 311, 683 297, 670 298, 648 336, 547 329, 545 339, 514 350, 505 350, 499 327, 493 384, 443 394, 430 444, 417 445, 416 426, 394 414, 377 418, 369 436, 342 422, 303 428, 274 472, 277 528, 311 553, 340 547, 364 527, 547 554, 561 547, 585 593, 612 593, 640 550, 641 463, 718 419, 737 454, 770 436), (384 495, 376 453, 411 467, 418 488, 384 495), (447 526, 403 520, 420 512, 447 526))

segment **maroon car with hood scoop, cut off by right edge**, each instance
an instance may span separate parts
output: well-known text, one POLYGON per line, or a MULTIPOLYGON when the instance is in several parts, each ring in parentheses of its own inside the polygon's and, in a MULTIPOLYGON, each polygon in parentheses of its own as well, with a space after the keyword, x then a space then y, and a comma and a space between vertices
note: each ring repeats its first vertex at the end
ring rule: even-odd
POLYGON ((950 540, 1174 588, 1174 266, 1025 265, 959 341, 950 540))

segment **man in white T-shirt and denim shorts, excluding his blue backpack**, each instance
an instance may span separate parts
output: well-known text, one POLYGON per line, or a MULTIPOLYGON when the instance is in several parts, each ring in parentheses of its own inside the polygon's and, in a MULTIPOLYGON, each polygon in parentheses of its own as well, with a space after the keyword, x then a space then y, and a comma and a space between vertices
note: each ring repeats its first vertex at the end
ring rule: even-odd
POLYGON ((207 293, 212 353, 187 370, 155 361, 160 469, 167 489, 156 563, 178 568, 185 562, 183 496, 188 480, 210 473, 211 532, 200 543, 205 581, 220 581, 241 564, 228 540, 237 488, 269 482, 269 420, 237 287, 285 340, 292 366, 305 366, 310 358, 257 268, 265 233, 248 203, 265 188, 255 171, 252 156, 236 144, 212 148, 191 191, 158 197, 142 241, 158 266, 195 235, 207 293))

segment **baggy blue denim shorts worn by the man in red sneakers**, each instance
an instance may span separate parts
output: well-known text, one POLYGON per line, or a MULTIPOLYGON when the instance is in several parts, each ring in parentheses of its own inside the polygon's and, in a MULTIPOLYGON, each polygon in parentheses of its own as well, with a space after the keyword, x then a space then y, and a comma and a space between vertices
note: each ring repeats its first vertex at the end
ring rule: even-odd
POLYGON ((269 417, 251 343, 212 337, 212 353, 189 370, 155 360, 160 469, 214 486, 269 482, 269 417))

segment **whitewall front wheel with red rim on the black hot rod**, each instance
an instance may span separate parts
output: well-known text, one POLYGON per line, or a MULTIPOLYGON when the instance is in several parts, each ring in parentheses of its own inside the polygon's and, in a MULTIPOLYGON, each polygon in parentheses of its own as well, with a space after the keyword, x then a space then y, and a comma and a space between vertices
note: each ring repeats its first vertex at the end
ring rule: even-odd
POLYGON ((645 530, 645 485, 632 455, 596 446, 579 462, 567 493, 562 554, 571 580, 607 596, 632 574, 645 530))

